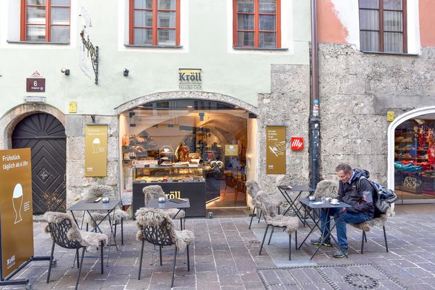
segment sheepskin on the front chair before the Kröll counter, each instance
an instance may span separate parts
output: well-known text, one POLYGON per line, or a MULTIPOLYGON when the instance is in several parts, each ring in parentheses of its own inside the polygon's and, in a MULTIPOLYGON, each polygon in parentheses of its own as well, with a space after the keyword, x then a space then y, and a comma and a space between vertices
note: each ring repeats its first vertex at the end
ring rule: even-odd
POLYGON ((172 218, 162 209, 151 209, 142 207, 136 211, 136 222, 139 231, 137 231, 136 239, 142 242, 142 226, 159 227, 164 223, 171 234, 171 240, 179 251, 184 251, 188 245, 193 242, 193 232, 182 230, 175 231, 172 218))

